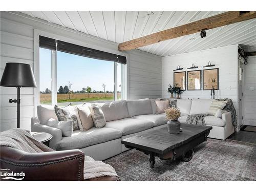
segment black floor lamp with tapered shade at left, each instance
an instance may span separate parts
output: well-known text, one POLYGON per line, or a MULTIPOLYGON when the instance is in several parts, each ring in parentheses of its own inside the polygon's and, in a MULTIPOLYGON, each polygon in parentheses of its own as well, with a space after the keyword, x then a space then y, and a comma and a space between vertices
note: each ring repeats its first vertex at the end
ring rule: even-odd
POLYGON ((36 88, 35 77, 31 66, 17 62, 6 63, 0 86, 17 88, 17 99, 9 99, 9 103, 17 103, 17 128, 19 128, 20 88, 36 88))

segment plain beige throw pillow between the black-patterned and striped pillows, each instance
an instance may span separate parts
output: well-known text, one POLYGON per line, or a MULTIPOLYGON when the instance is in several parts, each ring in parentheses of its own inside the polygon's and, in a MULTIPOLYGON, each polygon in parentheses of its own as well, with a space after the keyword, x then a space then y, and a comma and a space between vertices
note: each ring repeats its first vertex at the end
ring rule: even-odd
POLYGON ((91 115, 91 111, 89 107, 84 103, 83 105, 77 105, 76 106, 76 111, 77 111, 77 121, 78 121, 78 126, 80 131, 88 131, 90 130, 93 126, 93 119, 91 115))

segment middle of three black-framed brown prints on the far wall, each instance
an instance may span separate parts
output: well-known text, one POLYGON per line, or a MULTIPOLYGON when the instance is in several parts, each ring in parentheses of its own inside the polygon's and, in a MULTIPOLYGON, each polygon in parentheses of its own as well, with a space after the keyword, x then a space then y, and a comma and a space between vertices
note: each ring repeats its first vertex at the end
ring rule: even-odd
POLYGON ((201 70, 187 72, 187 90, 201 90, 201 70))

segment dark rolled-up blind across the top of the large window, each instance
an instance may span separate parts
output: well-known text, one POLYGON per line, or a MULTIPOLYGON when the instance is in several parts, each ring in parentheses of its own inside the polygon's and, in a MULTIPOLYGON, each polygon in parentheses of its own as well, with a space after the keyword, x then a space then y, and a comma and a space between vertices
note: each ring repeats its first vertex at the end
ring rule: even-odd
POLYGON ((39 36, 39 46, 41 48, 58 50, 66 53, 71 53, 79 56, 90 57, 100 60, 115 61, 122 64, 126 64, 126 57, 122 55, 117 55, 113 53, 108 53, 104 51, 99 51, 96 49, 91 49, 83 46, 78 46, 75 44, 70 44, 69 42, 56 40, 44 36, 39 36))

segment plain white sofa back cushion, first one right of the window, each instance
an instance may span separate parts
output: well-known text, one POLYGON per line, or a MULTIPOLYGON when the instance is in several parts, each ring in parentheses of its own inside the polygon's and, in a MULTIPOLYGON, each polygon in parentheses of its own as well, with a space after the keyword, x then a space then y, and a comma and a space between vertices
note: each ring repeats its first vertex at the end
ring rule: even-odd
POLYGON ((152 114, 150 99, 126 100, 129 117, 152 114))

